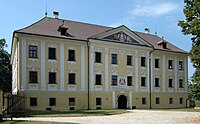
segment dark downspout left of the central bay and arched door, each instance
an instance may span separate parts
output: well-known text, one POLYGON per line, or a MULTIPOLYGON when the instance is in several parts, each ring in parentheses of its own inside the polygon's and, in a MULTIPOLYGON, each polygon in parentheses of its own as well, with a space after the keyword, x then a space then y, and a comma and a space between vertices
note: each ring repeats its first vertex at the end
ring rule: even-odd
POLYGON ((90 42, 88 39, 87 42, 87 49, 88 49, 88 110, 90 110, 90 42))

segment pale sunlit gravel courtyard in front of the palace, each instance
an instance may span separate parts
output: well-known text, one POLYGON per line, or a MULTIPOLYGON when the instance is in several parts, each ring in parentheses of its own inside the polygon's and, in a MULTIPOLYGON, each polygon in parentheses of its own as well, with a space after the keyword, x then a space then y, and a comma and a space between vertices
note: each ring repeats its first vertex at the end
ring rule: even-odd
POLYGON ((13 120, 74 122, 81 124, 200 124, 200 112, 129 110, 129 113, 111 116, 34 117, 13 120))

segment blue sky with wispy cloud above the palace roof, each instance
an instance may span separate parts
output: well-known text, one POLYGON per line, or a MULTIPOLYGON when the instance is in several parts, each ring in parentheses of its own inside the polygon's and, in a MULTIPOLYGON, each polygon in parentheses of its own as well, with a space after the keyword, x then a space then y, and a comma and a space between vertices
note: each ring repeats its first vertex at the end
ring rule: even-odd
MULTIPOLYGON (((10 53, 12 34, 45 16, 87 22, 105 26, 126 25, 134 31, 144 32, 149 28, 155 34, 175 46, 188 51, 191 36, 183 35, 177 26, 184 20, 183 0, 0 0, 0 39, 5 38, 6 50, 10 53)), ((188 60, 188 77, 194 68, 188 60)))

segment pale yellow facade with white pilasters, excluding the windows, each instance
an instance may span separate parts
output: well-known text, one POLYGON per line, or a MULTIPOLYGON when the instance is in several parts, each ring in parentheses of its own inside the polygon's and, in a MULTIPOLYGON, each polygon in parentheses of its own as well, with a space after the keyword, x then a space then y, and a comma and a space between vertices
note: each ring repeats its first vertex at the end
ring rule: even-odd
POLYGON ((14 36, 17 38, 13 38, 12 64, 17 69, 13 72, 13 93, 26 96, 26 109, 115 109, 120 105, 130 109, 186 107, 187 54, 154 49, 125 27, 88 41, 20 32, 14 36), (101 40, 104 35, 120 31, 143 45, 101 40), (30 45, 37 46, 37 58, 29 57, 30 45), (49 48, 56 49, 55 60, 48 58, 49 48), (75 51, 75 61, 68 61, 68 50, 75 51), (101 63, 95 62, 95 52, 101 53, 101 63), (112 54, 117 54, 117 64, 111 64, 112 54), (127 66, 127 55, 132 56, 131 66, 127 66), (141 57, 146 58, 145 67, 141 67, 141 57), (159 68, 155 68, 155 59, 159 59, 159 68), (168 69, 168 60, 173 60, 173 69, 168 69), (183 62, 183 70, 178 69, 179 61, 183 62), (38 83, 30 83, 30 71, 37 72, 38 83), (56 83, 49 84, 49 72, 56 73, 56 83), (69 84, 69 73, 75 74, 75 84, 69 84), (95 85, 96 74, 101 75, 101 85, 95 85), (117 85, 112 85, 112 75, 118 76, 117 85), (127 85, 127 76, 132 76, 132 86, 127 85), (145 77, 145 86, 141 86, 141 77, 145 77), (157 87, 155 78, 159 78, 157 87), (125 85, 120 84, 120 79, 125 80, 125 85), (169 79, 173 80, 172 87, 168 86, 169 79), (183 80, 181 88, 179 79, 183 80), (31 98, 37 99, 34 105, 30 103, 31 98), (55 105, 50 105, 50 98, 56 99, 55 105), (75 99, 71 105, 69 98, 75 99), (100 103, 97 98, 101 99, 100 103), (159 98, 158 103, 156 98, 159 98))

